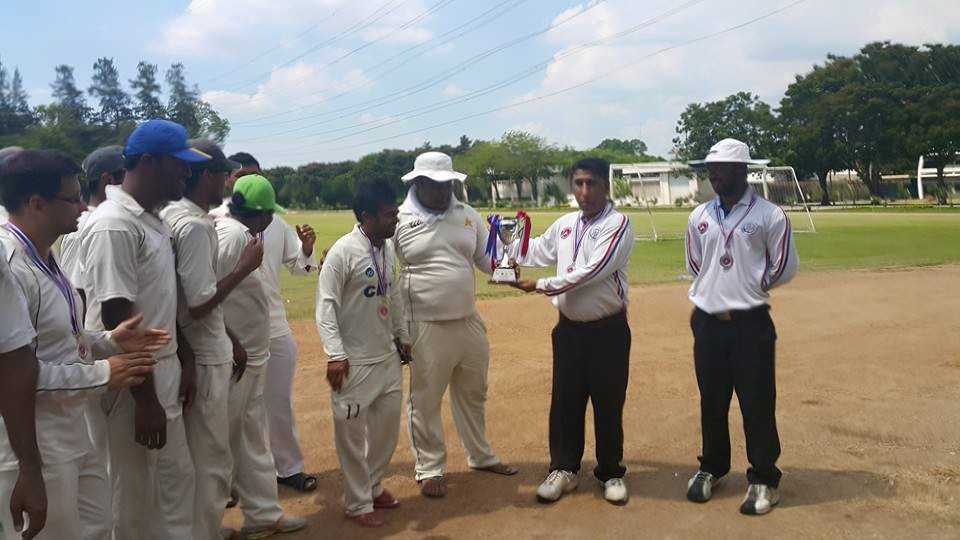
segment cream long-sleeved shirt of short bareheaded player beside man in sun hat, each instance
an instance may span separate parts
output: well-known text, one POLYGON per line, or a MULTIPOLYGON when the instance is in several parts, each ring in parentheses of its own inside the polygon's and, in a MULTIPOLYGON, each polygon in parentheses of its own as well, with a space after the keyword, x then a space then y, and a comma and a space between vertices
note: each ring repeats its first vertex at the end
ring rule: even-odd
POLYGON ((394 337, 410 342, 396 262, 392 243, 372 247, 359 225, 327 252, 317 285, 316 319, 331 362, 375 364, 396 358, 394 337), (378 294, 378 268, 386 294, 378 294))

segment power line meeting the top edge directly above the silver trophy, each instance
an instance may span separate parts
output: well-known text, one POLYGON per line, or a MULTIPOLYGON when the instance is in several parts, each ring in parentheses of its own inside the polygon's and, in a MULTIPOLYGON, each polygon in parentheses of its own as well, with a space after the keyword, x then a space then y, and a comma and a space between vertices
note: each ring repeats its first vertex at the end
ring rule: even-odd
MULTIPOLYGON (((389 75, 389 74, 395 72, 396 70, 400 69, 400 68, 403 67, 404 65, 412 62, 412 61, 415 60, 416 58, 419 58, 419 57, 423 56, 424 54, 426 54, 426 53, 428 53, 428 52, 430 52, 430 51, 432 51, 432 50, 435 50, 435 49, 437 49, 437 48, 439 48, 439 47, 442 47, 442 46, 444 46, 444 45, 446 45, 446 44, 448 44, 448 43, 450 43, 450 42, 452 42, 452 41, 454 41, 454 40, 456 40, 456 39, 458 39, 458 38, 462 38, 462 37, 464 37, 464 36, 466 36, 466 35, 469 35, 469 34, 472 33, 472 32, 475 32, 475 31, 479 30, 480 28, 483 28, 484 26, 492 23, 492 22, 495 21, 496 19, 502 17, 503 15, 507 14, 508 12, 512 11, 513 9, 517 8, 518 6, 520 6, 521 4, 523 4, 523 3, 527 2, 527 1, 528 1, 528 0, 504 0, 503 2, 500 2, 499 4, 493 6, 492 8, 490 8, 490 9, 488 9, 487 11, 481 13, 480 15, 477 15, 476 17, 471 18, 470 20, 468 20, 467 22, 461 24, 460 26, 457 26, 457 27, 455 27, 455 28, 452 28, 451 30, 448 30, 447 32, 445 32, 445 33, 443 33, 443 34, 441 34, 441 35, 439 35, 439 36, 437 36, 437 37, 435 37, 435 38, 433 38, 433 39, 431 39, 431 40, 429 40, 429 41, 427 41, 427 42, 420 43, 420 44, 414 45, 414 46, 412 46, 412 47, 408 47, 407 49, 404 49, 403 51, 400 51, 399 53, 397 53, 397 54, 395 54, 395 55, 393 55, 393 56, 390 56, 390 57, 388 57, 388 58, 385 58, 384 60, 381 60, 381 61, 378 62, 377 64, 375 64, 375 65, 373 65, 373 66, 370 66, 370 67, 367 68, 367 69, 369 69, 369 70, 377 69, 377 68, 379 68, 380 66, 383 66, 383 65, 385 65, 385 64, 388 64, 388 63, 390 63, 391 61, 393 61, 393 60, 395 60, 395 59, 397 59, 397 58, 400 58, 400 57, 406 55, 406 54, 409 53, 410 51, 413 51, 413 50, 415 50, 415 49, 418 49, 418 48, 420 48, 420 47, 423 47, 423 46, 426 45, 427 43, 431 43, 431 42, 437 41, 437 42, 434 43, 432 46, 430 46, 430 47, 428 47, 428 48, 426 48, 426 49, 423 49, 422 51, 419 51, 419 52, 413 54, 413 55, 410 56, 409 58, 407 58, 407 59, 403 60, 402 62, 398 63, 396 66, 394 66, 394 67, 392 67, 392 68, 390 68, 390 69, 387 69, 387 70, 379 73, 379 74, 376 75, 375 77, 372 77, 372 78, 367 79, 365 82, 363 82, 363 83, 361 83, 361 84, 351 86, 350 88, 348 88, 348 89, 346 89, 346 90, 344 90, 344 91, 342 91, 342 92, 340 92, 340 93, 338 93, 338 94, 335 94, 335 95, 333 95, 333 96, 331 96, 331 97, 329 97, 329 98, 326 98, 323 102, 324 102, 324 103, 329 103, 329 102, 331 102, 331 101, 335 101, 335 100, 340 99, 340 98, 342 98, 342 97, 344 97, 344 96, 347 96, 347 95, 349 95, 349 94, 352 94, 353 92, 355 92, 355 91, 357 91, 357 90, 359 90, 359 89, 361 89, 361 88, 370 86, 370 85, 372 85, 373 83, 375 83, 375 82, 383 79, 383 78, 386 77, 387 75, 389 75), (510 5, 507 5, 507 4, 510 4, 510 5), (504 7, 504 6, 506 6, 506 7, 504 7), (501 9, 501 8, 503 8, 503 9, 501 9), (499 9, 500 11, 497 11, 498 9, 499 9), (449 38, 449 39, 448 39, 448 38, 449 38)), ((334 88, 334 85, 330 85, 330 86, 321 88, 321 89, 317 90, 317 91, 315 92, 315 94, 320 94, 320 93, 326 92, 327 90, 330 90, 330 89, 332 89, 332 88, 334 88)), ((289 95, 291 95, 291 94, 285 94, 285 95, 286 95, 286 96, 289 96, 289 95)), ((279 97, 280 97, 280 98, 283 98, 285 95, 281 95, 281 96, 279 96, 279 97)), ((290 115, 290 114, 294 114, 294 113, 303 111, 303 110, 305 110, 305 109, 309 109, 309 108, 315 107, 316 105, 317 105, 316 103, 300 105, 300 106, 297 106, 297 107, 295 107, 295 108, 293 108, 293 109, 287 109, 287 110, 285 110, 285 111, 280 111, 280 112, 271 113, 271 114, 267 114, 267 115, 264 115, 264 116, 252 118, 252 119, 250 119, 250 120, 238 122, 238 123, 236 123, 236 124, 234 124, 234 125, 236 125, 236 126, 256 126, 256 127, 259 127, 259 126, 283 125, 283 124, 290 124, 290 123, 301 122, 301 121, 304 120, 304 118, 295 118, 295 119, 292 119, 292 120, 285 120, 285 121, 274 121, 274 122, 258 123, 258 122, 260 122, 261 120, 268 120, 268 119, 276 118, 276 117, 279 117, 279 116, 287 116, 287 115, 290 115)), ((356 105, 354 105, 354 106, 356 106, 356 105)))

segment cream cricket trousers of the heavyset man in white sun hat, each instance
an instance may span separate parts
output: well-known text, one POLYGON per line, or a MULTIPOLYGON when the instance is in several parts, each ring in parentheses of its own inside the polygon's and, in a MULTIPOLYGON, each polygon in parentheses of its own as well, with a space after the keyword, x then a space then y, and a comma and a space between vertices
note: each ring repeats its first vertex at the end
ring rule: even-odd
POLYGON ((442 476, 447 450, 440 404, 450 387, 453 422, 471 467, 500 463, 485 433, 490 345, 479 314, 453 321, 411 322, 408 417, 417 481, 442 476))

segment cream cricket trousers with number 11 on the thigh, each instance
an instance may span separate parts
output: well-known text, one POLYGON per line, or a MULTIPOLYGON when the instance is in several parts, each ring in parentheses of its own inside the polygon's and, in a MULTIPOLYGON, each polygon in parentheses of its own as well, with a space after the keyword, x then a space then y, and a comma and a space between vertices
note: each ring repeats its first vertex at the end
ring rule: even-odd
POLYGON ((339 392, 330 393, 334 441, 343 471, 347 515, 373 512, 373 499, 397 448, 403 380, 400 357, 351 365, 339 392))

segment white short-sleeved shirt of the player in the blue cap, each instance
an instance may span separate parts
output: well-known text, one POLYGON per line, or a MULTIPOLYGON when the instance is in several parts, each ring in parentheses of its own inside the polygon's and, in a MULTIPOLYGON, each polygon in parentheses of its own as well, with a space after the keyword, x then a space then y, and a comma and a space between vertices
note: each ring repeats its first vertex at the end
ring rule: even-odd
MULTIPOLYGON (((170 333, 170 343, 158 351, 157 362, 177 359, 177 273, 170 228, 147 212, 122 186, 107 186, 107 200, 90 214, 80 230, 87 294, 87 328, 103 330, 100 306, 123 298, 132 314, 143 314, 144 328, 170 333)), ((158 370, 154 387, 167 416, 181 414, 177 370, 158 370)))

